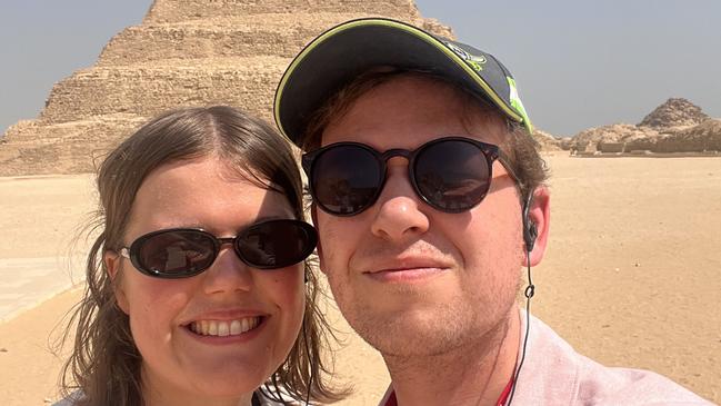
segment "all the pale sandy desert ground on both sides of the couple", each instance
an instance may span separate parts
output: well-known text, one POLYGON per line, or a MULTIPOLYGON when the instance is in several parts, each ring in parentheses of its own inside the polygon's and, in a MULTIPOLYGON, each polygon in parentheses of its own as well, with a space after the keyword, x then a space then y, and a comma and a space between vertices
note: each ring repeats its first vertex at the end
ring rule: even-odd
MULTIPOLYGON (((533 269, 532 313, 591 358, 655 370, 721 403, 721 159, 547 159, 551 239, 533 269)), ((81 255, 87 241, 71 237, 93 196, 90 175, 0 178, 0 265, 81 255)), ((59 277, 82 271, 58 263, 59 277)), ((0 267, 0 286, 18 277, 0 267)), ((51 345, 81 287, 52 294, 0 321, 3 405, 58 398, 63 353, 51 345)), ((341 404, 375 405, 388 385, 381 358, 329 313, 344 339, 338 380, 356 389, 341 404)))

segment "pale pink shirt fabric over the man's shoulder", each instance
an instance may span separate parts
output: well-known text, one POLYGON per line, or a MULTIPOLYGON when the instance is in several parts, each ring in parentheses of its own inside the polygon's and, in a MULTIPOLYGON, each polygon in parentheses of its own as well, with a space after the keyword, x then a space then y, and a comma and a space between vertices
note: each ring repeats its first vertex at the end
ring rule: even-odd
POLYGON ((711 405, 659 374, 607 367, 578 354, 534 317, 530 327, 525 362, 517 383, 519 404, 711 405))

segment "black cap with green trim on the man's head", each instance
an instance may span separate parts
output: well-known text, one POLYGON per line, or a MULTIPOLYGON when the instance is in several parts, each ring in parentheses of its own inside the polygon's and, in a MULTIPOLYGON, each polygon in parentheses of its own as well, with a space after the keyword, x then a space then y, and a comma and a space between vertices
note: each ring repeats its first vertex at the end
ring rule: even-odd
POLYGON ((276 91, 278 127, 299 143, 316 110, 356 77, 378 67, 447 77, 532 131, 511 72, 492 55, 381 18, 351 20, 331 28, 296 57, 276 91))

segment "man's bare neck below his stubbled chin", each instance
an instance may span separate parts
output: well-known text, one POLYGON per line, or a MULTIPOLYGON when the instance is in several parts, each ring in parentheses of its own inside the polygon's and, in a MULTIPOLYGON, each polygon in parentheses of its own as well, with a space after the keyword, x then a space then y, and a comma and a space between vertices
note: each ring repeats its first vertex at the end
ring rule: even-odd
POLYGON ((495 406, 513 376, 520 346, 515 306, 507 321, 478 340, 441 355, 383 355, 399 406, 495 406))

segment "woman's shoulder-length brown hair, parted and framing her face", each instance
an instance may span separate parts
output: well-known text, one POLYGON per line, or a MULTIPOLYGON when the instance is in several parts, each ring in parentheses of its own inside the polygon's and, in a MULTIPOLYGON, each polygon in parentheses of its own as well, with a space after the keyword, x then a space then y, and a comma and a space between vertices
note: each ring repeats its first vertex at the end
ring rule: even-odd
MULTIPOLYGON (((136 194, 148 175, 160 166, 201 157, 217 158, 258 186, 281 192, 297 218, 304 219, 301 178, 290 145, 262 120, 233 108, 169 111, 121 142, 98 170, 99 208, 87 228, 98 237, 88 255, 83 298, 69 321, 69 326, 77 323, 77 333, 62 369, 61 387, 74 405, 144 404, 141 355, 128 316, 116 301, 113 284, 119 278, 110 278, 102 256, 122 247, 136 194)), ((336 402, 343 398, 344 392, 324 380, 330 372, 321 350, 334 337, 318 308, 317 276, 308 261, 304 268, 302 330, 263 392, 278 402, 283 402, 280 390, 296 400, 304 400, 309 394, 317 402, 336 402)), ((63 341, 69 333, 70 327, 63 341)))

